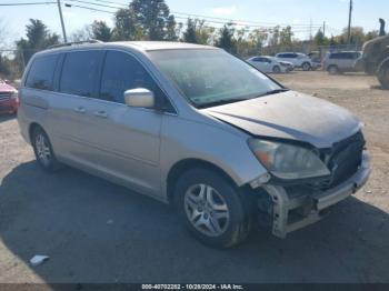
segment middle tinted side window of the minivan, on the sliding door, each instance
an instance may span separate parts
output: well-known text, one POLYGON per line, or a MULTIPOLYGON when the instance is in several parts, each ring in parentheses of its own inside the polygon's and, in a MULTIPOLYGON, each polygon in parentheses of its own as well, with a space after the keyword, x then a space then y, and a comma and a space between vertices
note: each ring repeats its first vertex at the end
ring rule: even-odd
POLYGON ((60 92, 92 97, 99 73, 101 51, 77 51, 66 56, 60 92))

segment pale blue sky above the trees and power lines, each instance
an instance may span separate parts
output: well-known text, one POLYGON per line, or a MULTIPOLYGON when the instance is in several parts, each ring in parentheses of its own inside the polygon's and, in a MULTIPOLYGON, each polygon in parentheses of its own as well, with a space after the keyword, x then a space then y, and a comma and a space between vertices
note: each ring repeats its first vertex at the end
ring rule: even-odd
MULTIPOLYGON (((1 3, 40 2, 57 0, 0 0, 1 3)), ((93 22, 104 20, 112 24, 112 14, 90 11, 74 4, 93 7, 107 11, 114 9, 81 3, 82 1, 108 4, 114 2, 126 4, 129 0, 61 0, 67 34, 93 22), (71 8, 64 3, 73 4, 71 8)), ((239 20, 240 24, 273 27, 291 24, 298 38, 315 34, 319 26, 326 21, 326 34, 338 34, 348 24, 349 0, 166 0, 172 12, 200 14, 213 18, 239 20), (248 21, 250 23, 243 22, 248 21), (256 23, 252 23, 256 22, 256 23), (310 29, 312 28, 312 29, 310 29)), ((117 4, 117 6, 118 6, 117 4)), ((110 6, 110 4, 108 4, 110 6)), ((111 4, 112 6, 112 4, 111 4)), ((352 26, 363 27, 366 31, 378 29, 378 18, 387 17, 389 26, 388 0, 353 0, 352 26)), ((183 17, 181 14, 181 17, 183 17)), ((12 47, 13 41, 24 37, 26 24, 30 18, 41 19, 52 32, 62 34, 57 4, 44 6, 0 6, 0 26, 7 28, 6 43, 12 47)), ((183 19, 177 19, 183 21, 183 19)), ((215 20, 220 21, 220 20, 215 20)), ((221 23, 208 23, 220 27, 221 23)))

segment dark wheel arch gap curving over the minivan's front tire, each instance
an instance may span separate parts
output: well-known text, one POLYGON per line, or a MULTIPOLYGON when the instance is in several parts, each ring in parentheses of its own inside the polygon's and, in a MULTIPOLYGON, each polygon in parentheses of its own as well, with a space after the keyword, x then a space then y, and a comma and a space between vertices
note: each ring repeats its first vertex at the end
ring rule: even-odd
POLYGON ((218 174, 220 174, 222 178, 225 178, 227 181, 229 181, 232 185, 238 187, 237 183, 233 181, 233 179, 220 167, 201 159, 184 159, 184 160, 178 161, 169 170, 168 178, 167 178, 167 195, 168 195, 169 203, 173 201, 176 183, 180 178, 180 175, 190 169, 199 169, 199 168, 212 170, 218 174))

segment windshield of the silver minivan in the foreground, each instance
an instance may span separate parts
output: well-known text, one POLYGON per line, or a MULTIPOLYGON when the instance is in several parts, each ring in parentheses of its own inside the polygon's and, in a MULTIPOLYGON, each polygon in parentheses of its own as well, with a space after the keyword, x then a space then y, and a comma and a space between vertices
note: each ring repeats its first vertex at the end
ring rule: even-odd
POLYGON ((160 50, 149 54, 197 108, 282 90, 257 69, 222 50, 160 50))

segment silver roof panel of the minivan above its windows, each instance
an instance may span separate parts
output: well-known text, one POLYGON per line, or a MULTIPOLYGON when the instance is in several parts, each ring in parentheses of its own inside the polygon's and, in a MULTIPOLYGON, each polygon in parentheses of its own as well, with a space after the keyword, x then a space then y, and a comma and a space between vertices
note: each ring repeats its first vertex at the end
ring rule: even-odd
POLYGON ((176 50, 176 49, 217 49, 210 46, 200 46, 186 42, 172 41, 118 41, 118 42, 101 42, 101 43, 74 43, 54 47, 50 50, 72 50, 78 48, 112 48, 112 47, 128 47, 140 51, 154 50, 176 50))

